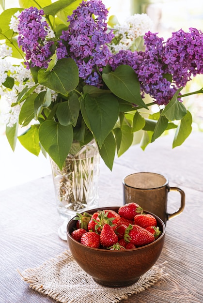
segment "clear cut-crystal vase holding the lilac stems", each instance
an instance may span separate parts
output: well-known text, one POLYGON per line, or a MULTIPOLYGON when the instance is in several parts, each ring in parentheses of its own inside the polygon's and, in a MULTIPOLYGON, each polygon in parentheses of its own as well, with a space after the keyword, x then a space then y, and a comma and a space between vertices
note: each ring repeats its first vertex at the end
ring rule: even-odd
POLYGON ((94 140, 84 146, 74 142, 60 169, 50 159, 57 210, 64 220, 58 233, 66 240, 66 226, 77 212, 98 206, 99 152, 94 140))

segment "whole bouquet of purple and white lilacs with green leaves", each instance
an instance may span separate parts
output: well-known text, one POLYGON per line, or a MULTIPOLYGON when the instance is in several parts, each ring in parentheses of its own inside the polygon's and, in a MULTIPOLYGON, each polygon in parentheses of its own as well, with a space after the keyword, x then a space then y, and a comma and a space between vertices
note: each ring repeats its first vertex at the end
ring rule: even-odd
POLYGON ((0 96, 9 103, 13 150, 18 138, 62 167, 74 141, 94 138, 111 169, 115 153, 123 154, 138 131, 142 149, 171 128, 173 147, 181 145, 192 130, 184 97, 203 92, 181 92, 203 74, 203 32, 178 30, 164 41, 146 14, 110 27, 101 0, 44 2, 0 15, 0 96), (20 135, 19 125, 26 128, 20 135))

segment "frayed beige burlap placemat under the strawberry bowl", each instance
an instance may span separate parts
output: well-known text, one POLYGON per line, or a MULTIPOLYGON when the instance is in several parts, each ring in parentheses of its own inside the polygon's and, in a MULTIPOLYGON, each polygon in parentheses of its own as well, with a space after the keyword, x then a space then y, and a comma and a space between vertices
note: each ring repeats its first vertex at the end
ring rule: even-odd
POLYGON ((94 282, 66 250, 37 268, 18 272, 30 288, 61 303, 118 303, 155 284, 163 275, 163 269, 163 264, 153 266, 132 286, 107 288, 94 282))

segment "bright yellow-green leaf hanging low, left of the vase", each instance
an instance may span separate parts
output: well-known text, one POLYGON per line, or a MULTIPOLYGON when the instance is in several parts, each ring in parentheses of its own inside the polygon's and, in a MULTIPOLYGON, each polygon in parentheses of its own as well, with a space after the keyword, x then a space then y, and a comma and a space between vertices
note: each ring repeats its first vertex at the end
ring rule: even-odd
POLYGON ((31 125, 31 127, 21 136, 18 136, 18 140, 26 150, 38 156, 40 153, 39 136, 38 136, 39 124, 31 125))

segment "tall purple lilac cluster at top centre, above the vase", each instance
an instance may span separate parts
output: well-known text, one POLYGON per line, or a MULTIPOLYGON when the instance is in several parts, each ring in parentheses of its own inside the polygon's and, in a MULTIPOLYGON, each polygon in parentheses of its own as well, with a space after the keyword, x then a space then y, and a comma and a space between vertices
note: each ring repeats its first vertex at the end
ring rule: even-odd
POLYGON ((108 10, 101 0, 82 1, 71 16, 68 30, 62 31, 61 39, 68 41, 70 57, 79 69, 84 82, 100 86, 100 72, 111 58, 107 46, 114 35, 107 28, 108 10))

